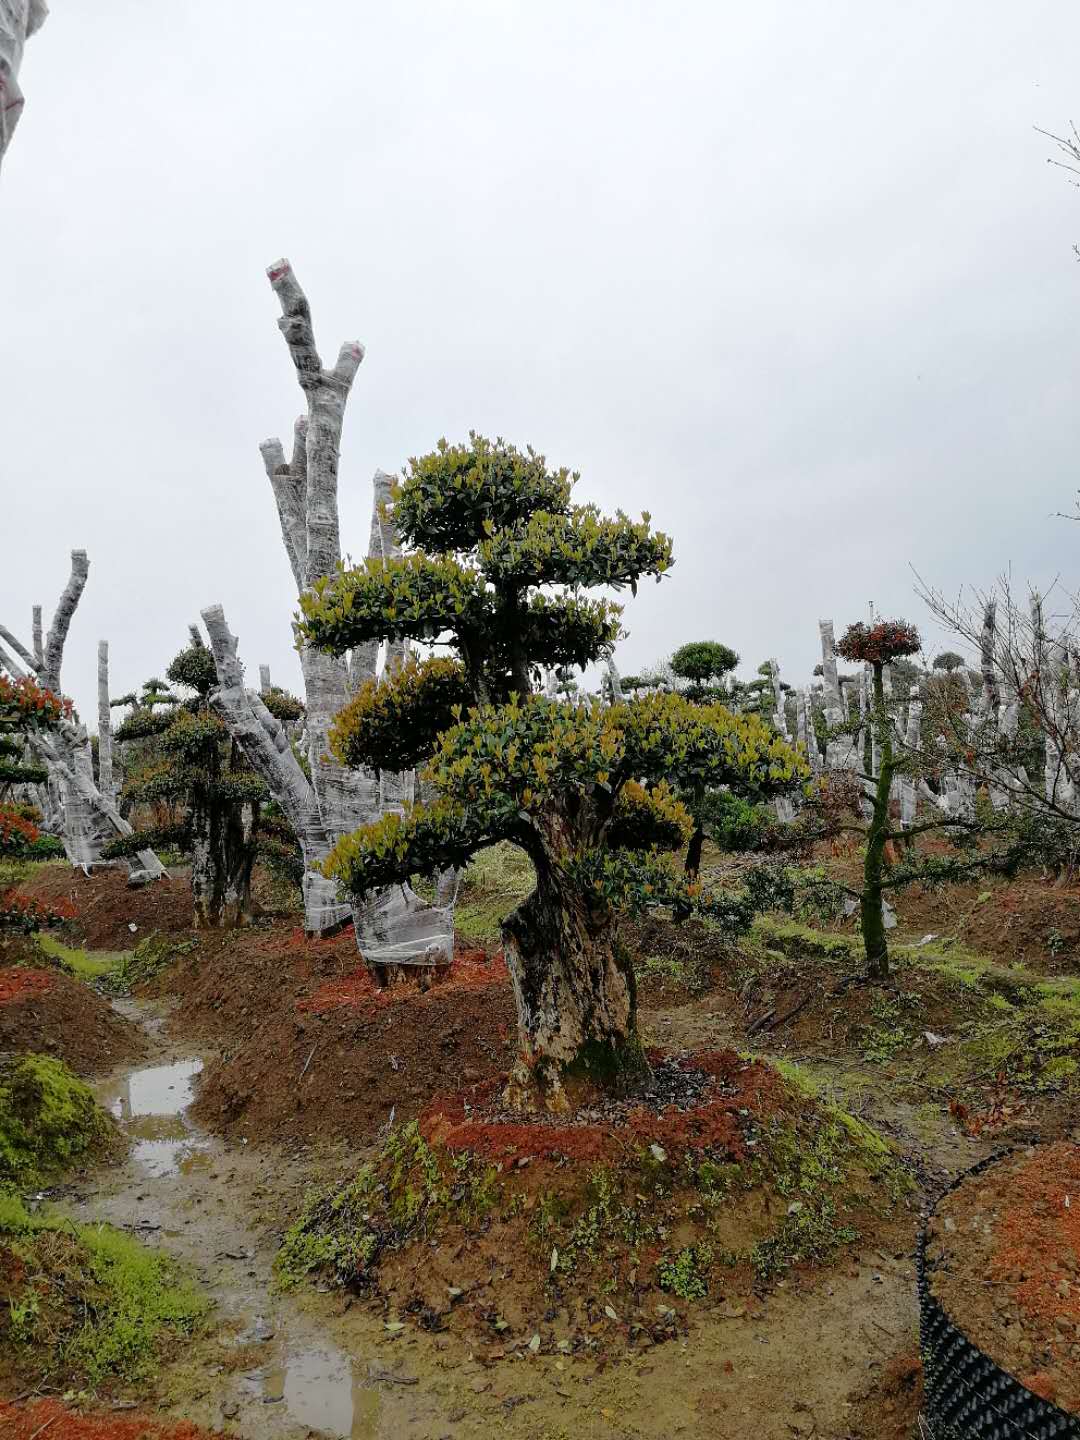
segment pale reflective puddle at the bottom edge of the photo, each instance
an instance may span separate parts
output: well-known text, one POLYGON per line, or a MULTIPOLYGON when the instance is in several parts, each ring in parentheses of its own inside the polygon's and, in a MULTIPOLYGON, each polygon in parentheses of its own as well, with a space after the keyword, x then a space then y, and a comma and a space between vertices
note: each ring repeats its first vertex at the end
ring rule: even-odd
POLYGON ((380 1397, 348 1356, 333 1345, 285 1348, 256 1381, 264 1404, 284 1404, 289 1417, 337 1440, 374 1440, 380 1397))

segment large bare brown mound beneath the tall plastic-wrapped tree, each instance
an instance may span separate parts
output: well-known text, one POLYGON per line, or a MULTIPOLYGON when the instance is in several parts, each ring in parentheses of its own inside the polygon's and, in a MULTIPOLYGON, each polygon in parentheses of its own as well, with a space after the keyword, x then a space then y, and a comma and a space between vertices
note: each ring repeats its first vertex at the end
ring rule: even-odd
POLYGON ((392 1112, 410 1119, 441 1090, 505 1068, 516 1034, 500 960, 468 953, 426 991, 376 991, 351 932, 245 932, 160 984, 183 995, 184 1032, 222 1045, 193 1115, 252 1140, 366 1143, 392 1112))

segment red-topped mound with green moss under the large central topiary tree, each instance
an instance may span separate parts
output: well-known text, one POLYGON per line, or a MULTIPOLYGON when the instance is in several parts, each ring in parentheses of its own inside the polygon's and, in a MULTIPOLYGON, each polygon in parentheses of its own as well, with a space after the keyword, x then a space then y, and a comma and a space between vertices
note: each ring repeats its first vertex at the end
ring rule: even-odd
POLYGON ((369 1293, 400 1329, 494 1345, 652 1344, 880 1231, 909 1189, 888 1145, 732 1051, 657 1060, 657 1093, 570 1122, 501 1116, 497 1081, 432 1104, 278 1257, 369 1293))

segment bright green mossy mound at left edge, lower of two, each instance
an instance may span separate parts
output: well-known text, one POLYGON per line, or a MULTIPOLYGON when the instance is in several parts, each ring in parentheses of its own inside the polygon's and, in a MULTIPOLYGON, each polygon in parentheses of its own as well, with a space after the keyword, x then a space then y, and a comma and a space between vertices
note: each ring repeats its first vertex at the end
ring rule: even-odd
POLYGON ((32 1215, 0 1187, 0 1380, 23 1388, 48 1374, 50 1385, 76 1390, 140 1380, 206 1310, 170 1261, 137 1240, 32 1215))

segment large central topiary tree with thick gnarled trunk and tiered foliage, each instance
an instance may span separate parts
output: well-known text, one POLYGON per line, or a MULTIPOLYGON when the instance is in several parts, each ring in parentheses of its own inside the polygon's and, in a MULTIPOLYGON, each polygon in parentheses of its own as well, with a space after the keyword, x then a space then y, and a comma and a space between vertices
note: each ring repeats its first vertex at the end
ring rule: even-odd
POLYGON ((671 566, 671 543, 648 516, 573 504, 576 480, 503 441, 442 442, 409 462, 393 492, 397 531, 416 549, 301 598, 310 645, 341 652, 412 636, 455 651, 366 685, 337 717, 330 739, 343 762, 428 759, 426 799, 338 841, 325 870, 361 896, 498 841, 526 851, 536 888, 503 924, 518 1014, 507 1103, 518 1109, 567 1110, 583 1094, 645 1083, 621 910, 700 910, 739 927, 775 896, 765 870, 708 894, 665 861, 691 829, 672 785, 756 793, 804 773, 760 720, 719 704, 533 694, 543 667, 611 654, 621 609, 583 588, 636 589, 671 566))

